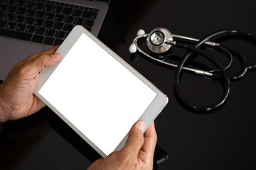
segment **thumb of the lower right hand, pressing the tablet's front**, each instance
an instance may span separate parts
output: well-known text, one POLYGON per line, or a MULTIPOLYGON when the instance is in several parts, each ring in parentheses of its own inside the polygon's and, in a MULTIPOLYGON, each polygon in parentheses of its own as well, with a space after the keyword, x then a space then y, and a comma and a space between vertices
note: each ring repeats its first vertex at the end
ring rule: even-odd
POLYGON ((145 123, 142 120, 139 120, 132 126, 122 152, 125 152, 125 154, 132 154, 134 157, 138 156, 139 150, 142 148, 144 143, 144 129, 145 123))

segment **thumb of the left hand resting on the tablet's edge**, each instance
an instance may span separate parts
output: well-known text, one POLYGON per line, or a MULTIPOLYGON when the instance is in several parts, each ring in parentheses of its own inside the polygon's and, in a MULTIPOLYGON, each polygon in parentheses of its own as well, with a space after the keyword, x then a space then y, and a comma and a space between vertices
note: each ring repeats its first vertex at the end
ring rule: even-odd
POLYGON ((26 75, 27 79, 33 79, 42 72, 45 67, 51 67, 59 60, 60 53, 55 53, 53 55, 40 55, 28 62, 26 67, 23 67, 21 70, 21 74, 26 75))

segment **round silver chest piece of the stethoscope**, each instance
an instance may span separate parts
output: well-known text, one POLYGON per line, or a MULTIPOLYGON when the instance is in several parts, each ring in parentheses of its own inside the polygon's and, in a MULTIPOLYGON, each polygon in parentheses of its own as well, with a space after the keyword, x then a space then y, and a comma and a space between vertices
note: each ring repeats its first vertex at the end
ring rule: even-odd
POLYGON ((146 45, 151 52, 159 54, 168 51, 171 48, 171 44, 167 44, 166 41, 173 40, 174 38, 169 30, 166 28, 155 28, 147 36, 146 45))

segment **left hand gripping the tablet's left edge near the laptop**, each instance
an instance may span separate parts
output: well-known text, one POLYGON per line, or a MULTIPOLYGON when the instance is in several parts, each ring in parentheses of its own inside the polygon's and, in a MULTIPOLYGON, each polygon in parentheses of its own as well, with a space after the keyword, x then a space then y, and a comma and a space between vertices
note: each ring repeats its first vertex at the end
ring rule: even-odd
POLYGON ((31 55, 11 69, 0 85, 0 122, 26 117, 46 106, 33 91, 38 74, 60 60, 60 54, 54 54, 58 47, 31 55))

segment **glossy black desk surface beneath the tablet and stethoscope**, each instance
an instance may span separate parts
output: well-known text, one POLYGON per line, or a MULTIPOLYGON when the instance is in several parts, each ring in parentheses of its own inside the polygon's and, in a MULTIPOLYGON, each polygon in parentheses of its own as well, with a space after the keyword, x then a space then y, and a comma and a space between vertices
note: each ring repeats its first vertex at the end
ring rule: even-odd
MULTIPOLYGON (((99 35, 114 52, 169 96, 156 118, 158 145, 169 153, 159 169, 255 169, 256 72, 232 81, 225 105, 207 115, 191 113, 174 96, 174 69, 160 67, 128 51, 137 30, 168 28, 171 33, 201 38, 214 30, 239 28, 256 33, 256 1, 123 1, 113 0, 99 35), (129 4, 127 4, 129 3, 129 4)), ((227 40, 256 62, 255 45, 227 40)), ((181 56, 183 51, 174 49, 181 56)), ((238 72, 237 68, 231 71, 238 72)), ((223 89, 218 81, 183 74, 181 89, 195 103, 213 102, 223 89)), ((48 109, 22 120, 4 123, 0 136, 0 166, 4 169, 86 169, 90 161, 73 132, 48 109)), ((90 152, 90 151, 89 151, 90 152)))

